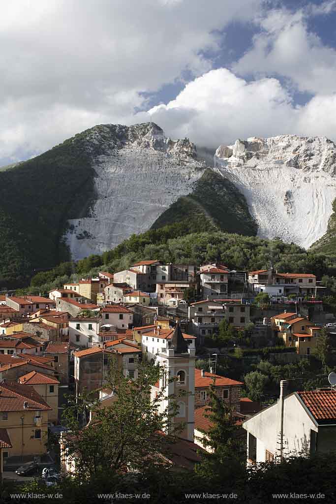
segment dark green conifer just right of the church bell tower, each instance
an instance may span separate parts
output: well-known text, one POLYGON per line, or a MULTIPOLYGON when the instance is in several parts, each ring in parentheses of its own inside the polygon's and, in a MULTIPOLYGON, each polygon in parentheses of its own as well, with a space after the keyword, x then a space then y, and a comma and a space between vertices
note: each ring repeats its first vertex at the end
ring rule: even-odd
POLYGON ((202 451, 201 462, 196 473, 205 478, 222 479, 228 472, 244 471, 244 442, 239 437, 240 426, 236 424, 234 413, 223 399, 216 394, 216 381, 209 388, 209 405, 205 418, 210 421, 208 430, 200 430, 204 437, 198 440, 208 451, 202 451))

